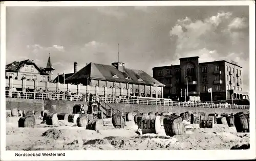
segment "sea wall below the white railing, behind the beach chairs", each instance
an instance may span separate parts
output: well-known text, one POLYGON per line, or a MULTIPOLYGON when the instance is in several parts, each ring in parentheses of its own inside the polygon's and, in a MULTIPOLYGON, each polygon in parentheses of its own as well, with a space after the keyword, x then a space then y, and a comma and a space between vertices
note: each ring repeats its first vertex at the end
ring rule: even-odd
MULTIPOLYGON (((17 99, 17 98, 6 98, 6 109, 11 110, 17 108, 19 110, 29 110, 43 111, 48 110, 49 112, 57 113, 72 113, 73 106, 75 104, 84 104, 85 109, 88 109, 88 102, 78 102, 78 101, 64 101, 64 100, 36 100, 36 99, 17 99)), ((224 109, 224 108, 192 108, 192 107, 179 107, 179 106, 164 106, 164 105, 142 105, 142 104, 114 104, 108 103, 113 109, 117 109, 121 112, 133 112, 138 110, 140 113, 149 112, 172 112, 180 113, 189 112, 204 112, 206 114, 210 113, 237 113, 244 112, 247 110, 243 109, 224 109)))

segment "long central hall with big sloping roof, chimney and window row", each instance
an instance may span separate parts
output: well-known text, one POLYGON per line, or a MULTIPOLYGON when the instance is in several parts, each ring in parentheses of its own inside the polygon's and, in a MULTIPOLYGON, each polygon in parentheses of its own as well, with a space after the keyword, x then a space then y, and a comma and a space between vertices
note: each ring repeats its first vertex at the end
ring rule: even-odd
POLYGON ((112 65, 89 63, 70 77, 66 78, 65 74, 65 83, 126 89, 130 95, 157 98, 163 97, 164 87, 144 71, 125 68, 121 62, 112 65))

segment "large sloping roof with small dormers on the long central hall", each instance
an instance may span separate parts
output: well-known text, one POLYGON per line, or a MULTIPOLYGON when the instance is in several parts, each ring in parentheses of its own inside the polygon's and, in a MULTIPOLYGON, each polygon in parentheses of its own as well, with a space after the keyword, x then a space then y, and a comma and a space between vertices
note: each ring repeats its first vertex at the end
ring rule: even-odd
POLYGON ((86 67, 83 67, 81 70, 65 80, 72 82, 77 79, 84 79, 87 77, 90 77, 92 79, 103 79, 111 82, 116 81, 152 86, 156 82, 158 86, 165 86, 142 70, 124 68, 124 72, 121 72, 112 65, 103 65, 96 63, 88 64, 86 67), (114 78, 114 75, 118 76, 118 78, 114 78), (131 79, 126 79, 127 77, 130 77, 131 79), (139 78, 141 78, 143 81, 138 81, 139 78))

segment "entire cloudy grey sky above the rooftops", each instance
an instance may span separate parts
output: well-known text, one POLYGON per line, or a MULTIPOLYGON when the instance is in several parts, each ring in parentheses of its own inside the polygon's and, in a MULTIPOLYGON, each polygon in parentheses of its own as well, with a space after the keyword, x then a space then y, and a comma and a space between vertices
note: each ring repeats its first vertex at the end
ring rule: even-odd
POLYGON ((87 63, 116 62, 152 75, 155 66, 236 61, 249 88, 247 6, 7 7, 6 63, 25 59, 46 67, 49 52, 57 73, 87 63))

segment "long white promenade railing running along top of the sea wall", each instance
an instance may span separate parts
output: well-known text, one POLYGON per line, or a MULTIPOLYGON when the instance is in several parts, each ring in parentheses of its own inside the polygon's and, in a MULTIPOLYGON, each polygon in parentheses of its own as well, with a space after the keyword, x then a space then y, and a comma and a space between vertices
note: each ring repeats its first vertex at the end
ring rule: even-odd
MULTIPOLYGON (((56 93, 36 93, 36 92, 11 92, 6 91, 6 98, 17 99, 41 99, 41 100, 69 100, 69 101, 88 101, 88 96, 84 95, 69 95, 56 93)), ((104 101, 106 103, 125 103, 125 104, 146 104, 146 105, 166 105, 166 106, 187 106, 199 108, 226 108, 226 109, 250 109, 249 105, 231 105, 231 104, 211 104, 211 103, 195 103, 195 102, 176 102, 171 99, 139 97, 139 98, 113 98, 93 96, 93 99, 104 101)))

